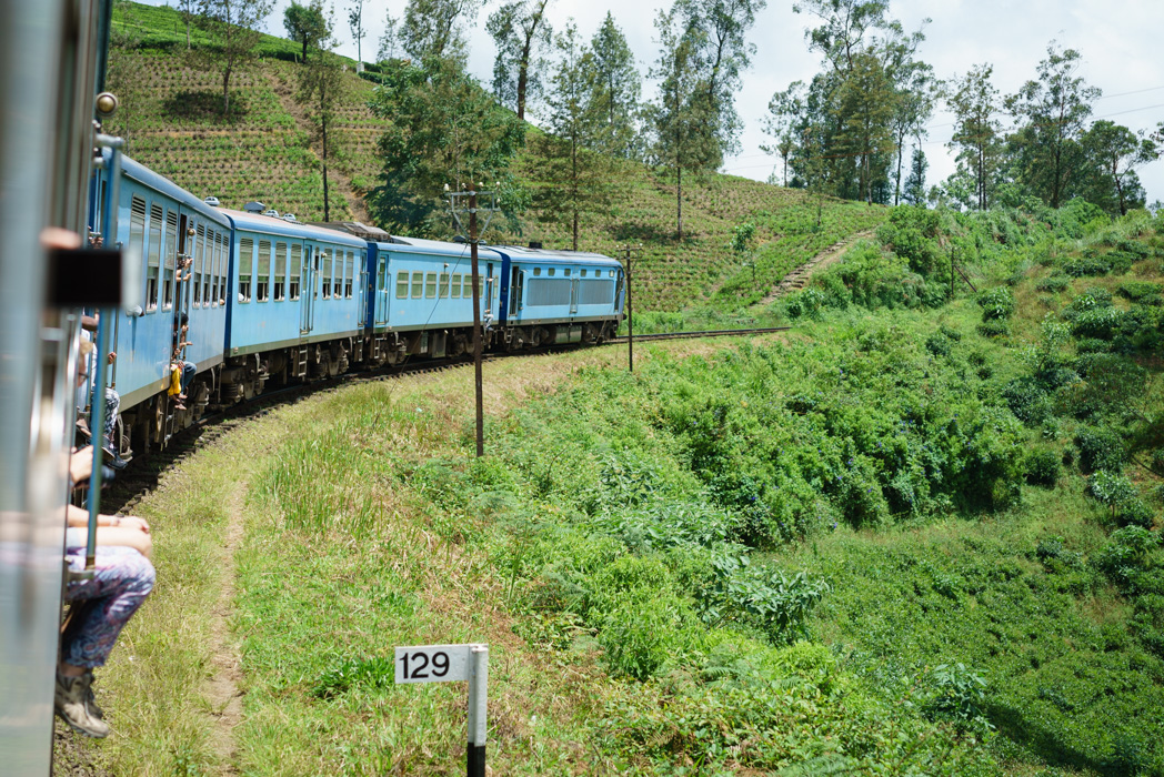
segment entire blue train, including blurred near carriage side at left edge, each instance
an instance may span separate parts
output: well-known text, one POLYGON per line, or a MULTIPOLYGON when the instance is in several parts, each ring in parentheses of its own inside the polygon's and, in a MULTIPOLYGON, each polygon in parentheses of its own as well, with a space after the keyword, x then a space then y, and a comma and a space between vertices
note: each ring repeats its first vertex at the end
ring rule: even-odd
MULTIPOLYGON (((5 775, 52 772, 62 592, 74 573, 62 564, 64 463, 79 399, 95 433, 105 402, 92 397, 119 393, 115 452, 132 456, 271 385, 464 355, 475 319, 494 351, 601 343, 627 291, 615 259, 537 245, 480 245, 474 288, 467 243, 300 223, 257 202, 222 208, 123 157, 100 123, 116 107, 104 91, 113 2, 0 3, 5 775), (100 323, 91 395, 79 398, 85 309, 100 323), (184 401, 176 358, 192 365, 184 401)), ((98 448, 86 451, 90 551, 98 448)))

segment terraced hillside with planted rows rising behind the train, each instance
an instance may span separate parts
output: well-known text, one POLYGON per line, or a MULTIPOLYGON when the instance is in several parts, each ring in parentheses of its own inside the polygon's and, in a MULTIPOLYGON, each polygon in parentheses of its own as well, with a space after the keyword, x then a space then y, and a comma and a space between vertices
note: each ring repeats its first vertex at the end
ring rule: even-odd
MULTIPOLYGON (((127 138, 130 156, 227 207, 260 200, 300 220, 324 219, 321 149, 294 100, 294 43, 264 37, 261 59, 234 77, 232 109, 223 116, 220 76, 187 55, 185 24, 176 10, 126 3, 114 24, 123 45, 114 48, 111 78, 122 111, 108 129, 127 138)), ((205 43, 197 30, 192 42, 196 48, 205 43)), ((375 222, 363 194, 381 171, 376 142, 383 120, 367 107, 375 86, 355 74, 354 63, 349 66, 341 120, 329 130, 331 219, 375 222)), ((615 206, 604 219, 582 224, 580 248, 618 255, 623 244, 643 244, 636 265, 639 309, 741 311, 795 266, 879 224, 886 213, 830 200, 816 229, 815 206, 804 192, 711 174, 684 180, 684 235, 676 241, 674 183, 637 163, 623 165, 619 177, 615 206), (757 227, 758 249, 754 261, 745 262, 729 245, 733 230, 748 221, 757 227)), ((485 237, 570 245, 568 224, 538 216, 526 213, 520 229, 511 231, 499 229, 498 220, 485 237)))

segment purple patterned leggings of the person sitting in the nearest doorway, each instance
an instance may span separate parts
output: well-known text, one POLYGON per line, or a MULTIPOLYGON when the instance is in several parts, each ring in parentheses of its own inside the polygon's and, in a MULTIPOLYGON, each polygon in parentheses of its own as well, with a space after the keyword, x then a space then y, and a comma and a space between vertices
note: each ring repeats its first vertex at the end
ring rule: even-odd
MULTIPOLYGON (((85 549, 70 548, 69 569, 85 569, 85 549)), ((100 547, 87 580, 73 580, 65 600, 73 604, 61 636, 61 660, 74 666, 104 666, 121 629, 154 590, 154 565, 133 548, 100 547)))

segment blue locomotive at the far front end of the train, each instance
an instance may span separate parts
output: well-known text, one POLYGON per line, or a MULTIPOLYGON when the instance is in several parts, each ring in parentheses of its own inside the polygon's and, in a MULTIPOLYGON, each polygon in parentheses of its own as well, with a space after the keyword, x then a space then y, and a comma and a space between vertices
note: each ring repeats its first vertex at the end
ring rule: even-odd
POLYGON ((503 258, 499 326, 509 350, 598 344, 623 319, 623 266, 602 254, 491 245, 503 258))

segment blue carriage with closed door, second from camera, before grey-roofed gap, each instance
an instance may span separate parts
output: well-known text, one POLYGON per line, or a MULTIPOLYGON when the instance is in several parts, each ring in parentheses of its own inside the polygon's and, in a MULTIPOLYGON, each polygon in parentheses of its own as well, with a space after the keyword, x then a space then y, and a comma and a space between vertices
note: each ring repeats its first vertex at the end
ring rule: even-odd
POLYGON ((365 361, 368 243, 248 207, 221 211, 234 229, 223 402, 271 379, 325 378, 365 361))

